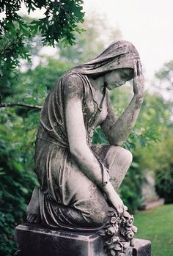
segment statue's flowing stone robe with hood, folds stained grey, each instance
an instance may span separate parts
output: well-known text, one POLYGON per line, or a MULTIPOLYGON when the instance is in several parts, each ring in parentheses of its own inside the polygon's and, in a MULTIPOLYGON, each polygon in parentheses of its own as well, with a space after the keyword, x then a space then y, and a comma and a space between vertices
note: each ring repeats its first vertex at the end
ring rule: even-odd
MULTIPOLYGON (((94 98, 88 76, 102 74, 122 67, 133 68, 134 59, 139 58, 136 48, 129 42, 112 43, 100 56, 84 65, 74 67, 59 78, 45 100, 37 132, 35 150, 35 172, 40 183, 40 213, 43 224, 48 227, 92 227, 92 216, 103 214, 108 208, 105 197, 97 186, 79 169, 73 160, 65 125, 64 91, 68 76, 76 74, 77 83, 83 88, 82 111, 87 133, 87 144, 92 150, 92 136, 97 125, 107 115, 108 92, 105 88, 100 105, 94 98)), ((101 161, 97 150, 92 150, 100 163, 103 185, 108 182, 109 164, 101 161)), ((104 155, 104 154, 103 154, 104 155)), ((106 155, 105 155, 106 156, 106 155)))

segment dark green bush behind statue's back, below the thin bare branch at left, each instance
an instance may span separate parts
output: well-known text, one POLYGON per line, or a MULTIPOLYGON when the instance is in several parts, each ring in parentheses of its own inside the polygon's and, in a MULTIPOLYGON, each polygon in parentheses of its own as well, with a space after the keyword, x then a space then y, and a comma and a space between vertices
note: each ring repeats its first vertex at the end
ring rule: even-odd
MULTIPOLYGON (((33 122, 35 114, 31 117, 33 122)), ((0 122, 0 253, 6 256, 15 251, 14 227, 24 221, 26 204, 37 186, 33 172, 36 130, 13 109, 1 110, 0 122)))

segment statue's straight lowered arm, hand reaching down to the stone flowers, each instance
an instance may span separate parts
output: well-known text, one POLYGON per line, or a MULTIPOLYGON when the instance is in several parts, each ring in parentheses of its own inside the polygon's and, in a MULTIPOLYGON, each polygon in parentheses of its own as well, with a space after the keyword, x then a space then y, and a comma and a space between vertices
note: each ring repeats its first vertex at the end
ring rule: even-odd
POLYGON ((102 169, 86 142, 86 130, 82 112, 83 95, 81 78, 76 75, 71 75, 67 78, 65 82, 64 98, 65 122, 70 153, 81 169, 81 172, 99 186, 100 189, 106 193, 108 200, 117 208, 117 211, 122 213, 122 200, 109 181, 106 185, 103 185, 102 169))

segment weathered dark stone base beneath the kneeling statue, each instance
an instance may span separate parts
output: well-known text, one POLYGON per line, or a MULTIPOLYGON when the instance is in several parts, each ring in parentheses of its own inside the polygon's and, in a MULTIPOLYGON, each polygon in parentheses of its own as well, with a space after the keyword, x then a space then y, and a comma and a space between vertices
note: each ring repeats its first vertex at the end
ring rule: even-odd
MULTIPOLYGON (((103 238, 97 233, 77 233, 51 230, 38 224, 23 224, 15 228, 18 244, 16 256, 107 256, 103 252, 103 238)), ((134 239, 123 256, 150 256, 150 241, 134 239)))

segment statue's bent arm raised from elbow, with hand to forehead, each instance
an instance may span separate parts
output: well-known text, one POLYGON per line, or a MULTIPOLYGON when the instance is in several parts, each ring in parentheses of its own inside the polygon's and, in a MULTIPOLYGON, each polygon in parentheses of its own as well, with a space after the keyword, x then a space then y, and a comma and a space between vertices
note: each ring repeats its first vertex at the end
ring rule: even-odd
POLYGON ((139 61, 134 66, 133 92, 132 100, 119 118, 114 113, 110 101, 108 103, 108 116, 102 123, 101 128, 111 145, 120 146, 128 139, 139 116, 144 98, 144 76, 142 76, 141 63, 139 61))

